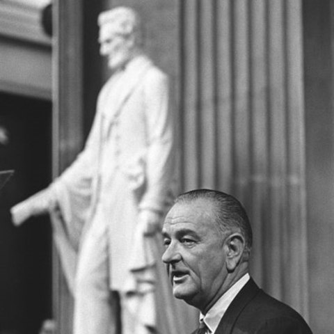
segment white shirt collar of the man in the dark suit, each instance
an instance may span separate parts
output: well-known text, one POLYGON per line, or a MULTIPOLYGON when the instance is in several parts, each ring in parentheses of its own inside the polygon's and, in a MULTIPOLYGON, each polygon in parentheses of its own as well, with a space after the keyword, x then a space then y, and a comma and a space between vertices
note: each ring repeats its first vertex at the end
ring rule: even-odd
POLYGON ((225 294, 223 294, 218 301, 216 301, 206 315, 202 315, 202 313, 200 313, 200 321, 204 321, 207 328, 209 328, 208 334, 216 331, 221 318, 228 309, 228 306, 230 306, 230 303, 232 303, 233 299, 237 296, 244 285, 246 285, 249 279, 249 273, 246 273, 237 281, 237 283, 234 283, 234 285, 232 285, 232 287, 230 287, 230 289, 228 289, 228 291, 225 292, 225 294))

